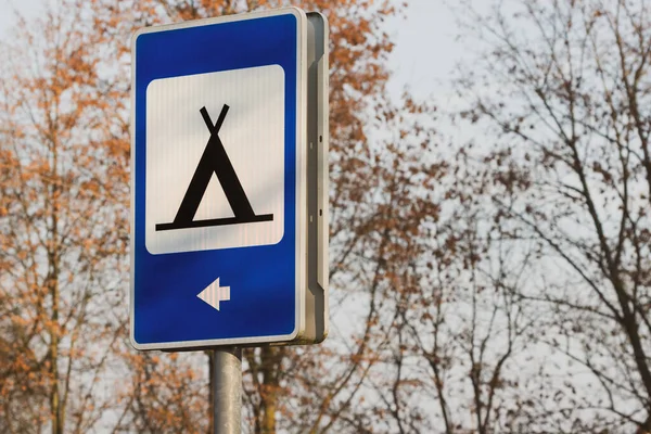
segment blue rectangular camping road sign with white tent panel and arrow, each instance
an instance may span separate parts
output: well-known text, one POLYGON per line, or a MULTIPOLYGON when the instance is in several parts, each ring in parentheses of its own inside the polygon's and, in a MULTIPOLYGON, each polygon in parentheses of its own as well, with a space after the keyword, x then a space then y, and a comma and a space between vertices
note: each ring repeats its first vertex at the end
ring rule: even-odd
POLYGON ((286 8, 133 37, 136 348, 324 339, 327 34, 286 8))

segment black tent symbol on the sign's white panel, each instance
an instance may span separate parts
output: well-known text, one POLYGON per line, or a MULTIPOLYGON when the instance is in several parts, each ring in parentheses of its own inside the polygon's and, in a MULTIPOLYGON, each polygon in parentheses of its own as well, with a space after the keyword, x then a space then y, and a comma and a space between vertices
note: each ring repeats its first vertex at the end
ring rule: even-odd
POLYGON ((228 108, 229 106, 224 104, 219 118, 214 126, 206 107, 204 106, 200 110, 201 115, 210 131, 210 138, 199 161, 196 170, 192 176, 190 186, 188 186, 188 190, 186 191, 186 195, 183 196, 183 201, 179 206, 174 221, 170 224, 157 224, 157 231, 273 220, 273 214, 256 215, 253 212, 248 197, 246 197, 246 193, 244 193, 244 189, 240 183, 238 174, 235 174, 233 165, 224 149, 224 143, 221 143, 221 139, 219 139, 219 129, 221 128, 221 124, 224 124, 228 108), (226 199, 235 216, 194 220, 194 215, 196 214, 199 204, 208 187, 208 182, 213 177, 213 173, 217 175, 217 179, 226 193, 226 199))

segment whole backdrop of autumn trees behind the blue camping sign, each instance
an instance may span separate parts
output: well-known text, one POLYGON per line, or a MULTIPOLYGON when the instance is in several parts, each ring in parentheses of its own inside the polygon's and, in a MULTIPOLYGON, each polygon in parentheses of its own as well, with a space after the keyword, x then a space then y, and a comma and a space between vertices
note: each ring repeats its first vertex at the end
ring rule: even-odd
MULTIPOLYGON (((289 3, 64 0, 0 46, 0 432, 212 432, 209 353, 127 340, 129 38, 289 3)), ((408 4, 291 3, 330 22, 332 330, 245 349, 243 431, 651 432, 648 7, 462 1, 437 107, 386 93, 408 4)))

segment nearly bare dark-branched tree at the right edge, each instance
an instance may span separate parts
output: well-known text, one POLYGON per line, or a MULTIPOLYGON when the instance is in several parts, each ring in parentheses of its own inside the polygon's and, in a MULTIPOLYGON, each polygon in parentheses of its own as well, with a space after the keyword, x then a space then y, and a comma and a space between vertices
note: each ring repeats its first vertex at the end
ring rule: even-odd
POLYGON ((507 240, 535 242, 533 277, 512 293, 544 312, 531 339, 552 361, 521 423, 651 432, 649 8, 469 10, 484 46, 459 81, 473 101, 462 116, 492 138, 473 151, 477 174, 493 176, 475 193, 490 197, 507 240))

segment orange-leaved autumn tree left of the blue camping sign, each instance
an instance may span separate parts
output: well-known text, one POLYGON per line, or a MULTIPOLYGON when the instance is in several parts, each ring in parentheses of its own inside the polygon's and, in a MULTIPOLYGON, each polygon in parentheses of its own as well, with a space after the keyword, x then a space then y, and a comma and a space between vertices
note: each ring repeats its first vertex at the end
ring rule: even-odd
MULTIPOLYGON (((0 77, 0 426, 86 432, 124 333, 128 124, 115 54, 64 2, 4 44, 0 77), (105 71, 105 72, 102 72, 105 71)), ((98 14, 98 21, 101 15, 98 14)))

